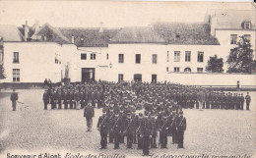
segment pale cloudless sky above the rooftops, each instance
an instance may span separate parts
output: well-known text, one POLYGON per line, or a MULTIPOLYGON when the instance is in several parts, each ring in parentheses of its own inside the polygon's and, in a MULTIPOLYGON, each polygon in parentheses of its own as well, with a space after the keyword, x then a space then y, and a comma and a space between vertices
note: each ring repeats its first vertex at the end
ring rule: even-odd
POLYGON ((105 27, 203 22, 208 10, 256 10, 250 3, 131 1, 0 1, 0 25, 105 27))

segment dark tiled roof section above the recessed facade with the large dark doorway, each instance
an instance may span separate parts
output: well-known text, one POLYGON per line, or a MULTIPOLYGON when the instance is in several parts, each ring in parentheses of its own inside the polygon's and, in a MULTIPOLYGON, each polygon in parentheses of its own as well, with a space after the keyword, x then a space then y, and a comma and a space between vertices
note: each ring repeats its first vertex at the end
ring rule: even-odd
POLYGON ((120 29, 119 28, 103 28, 99 31, 99 27, 95 28, 78 28, 78 27, 59 27, 61 33, 70 41, 74 36, 74 43, 78 47, 107 47, 109 40, 120 29))

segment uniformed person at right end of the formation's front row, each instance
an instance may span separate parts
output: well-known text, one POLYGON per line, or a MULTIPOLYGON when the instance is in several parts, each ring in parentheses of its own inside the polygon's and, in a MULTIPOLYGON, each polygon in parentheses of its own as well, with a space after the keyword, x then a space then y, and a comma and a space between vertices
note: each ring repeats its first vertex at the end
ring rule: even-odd
POLYGON ((186 131, 186 118, 183 117, 183 111, 179 112, 179 117, 176 121, 176 131, 177 131, 177 140, 178 140, 178 148, 184 148, 184 132, 186 131))

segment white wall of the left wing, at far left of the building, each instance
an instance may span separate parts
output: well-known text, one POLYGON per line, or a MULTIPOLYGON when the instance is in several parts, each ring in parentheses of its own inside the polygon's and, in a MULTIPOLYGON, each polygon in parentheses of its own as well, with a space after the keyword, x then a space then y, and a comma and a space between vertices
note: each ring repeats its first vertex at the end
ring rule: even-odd
POLYGON ((13 69, 20 69, 20 82, 53 82, 61 79, 61 65, 55 57, 61 56, 60 45, 49 42, 4 42, 4 68, 6 79, 13 81, 13 69), (20 63, 13 63, 13 52, 19 52, 20 63))

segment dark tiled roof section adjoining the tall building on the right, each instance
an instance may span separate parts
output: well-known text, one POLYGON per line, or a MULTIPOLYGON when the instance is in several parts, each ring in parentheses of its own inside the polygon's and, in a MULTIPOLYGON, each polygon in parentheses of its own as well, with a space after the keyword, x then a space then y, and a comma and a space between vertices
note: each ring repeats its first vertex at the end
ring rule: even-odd
POLYGON ((208 24, 155 24, 154 29, 168 44, 218 45, 208 24))

